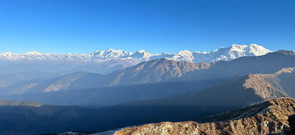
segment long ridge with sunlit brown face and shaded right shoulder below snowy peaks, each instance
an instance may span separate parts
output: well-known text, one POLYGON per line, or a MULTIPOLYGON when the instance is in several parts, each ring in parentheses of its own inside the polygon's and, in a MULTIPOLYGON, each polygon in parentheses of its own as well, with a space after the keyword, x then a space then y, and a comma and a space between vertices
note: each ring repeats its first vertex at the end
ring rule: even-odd
POLYGON ((229 78, 247 74, 272 74, 283 68, 295 67, 293 51, 280 50, 263 56, 240 57, 232 61, 191 63, 165 58, 141 62, 119 69, 97 82, 100 86, 146 84, 229 78))

